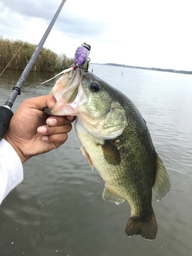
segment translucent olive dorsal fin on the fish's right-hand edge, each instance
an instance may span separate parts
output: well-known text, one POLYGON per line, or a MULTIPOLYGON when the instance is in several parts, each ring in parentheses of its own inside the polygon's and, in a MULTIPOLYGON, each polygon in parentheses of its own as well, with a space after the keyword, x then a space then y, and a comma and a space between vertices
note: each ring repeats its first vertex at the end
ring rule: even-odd
POLYGON ((156 175, 153 191, 157 201, 163 199, 170 191, 170 180, 160 157, 156 153, 156 175))

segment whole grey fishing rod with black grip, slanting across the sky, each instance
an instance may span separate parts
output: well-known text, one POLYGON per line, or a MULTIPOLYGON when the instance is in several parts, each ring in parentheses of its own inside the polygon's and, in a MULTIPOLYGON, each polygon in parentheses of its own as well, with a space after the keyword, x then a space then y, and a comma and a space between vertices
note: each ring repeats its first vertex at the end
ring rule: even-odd
POLYGON ((44 45, 49 33, 51 32, 51 29, 53 28, 53 25, 55 24, 55 21, 65 4, 66 0, 62 0, 58 10, 56 11, 49 27, 47 28, 44 36, 41 38, 37 48, 35 49, 33 55, 31 56, 30 60, 27 63, 27 66, 25 67, 22 75, 18 79, 15 87, 13 87, 12 93, 10 94, 8 100, 5 102, 4 106, 0 106, 0 141, 3 139, 3 136, 7 130, 7 127, 9 126, 9 122, 11 120, 11 117, 13 116, 13 112, 11 111, 11 108, 13 106, 13 103, 17 97, 17 95, 20 95, 20 89, 22 88, 29 72, 31 71, 31 68, 33 67, 33 64, 42 48, 44 45))

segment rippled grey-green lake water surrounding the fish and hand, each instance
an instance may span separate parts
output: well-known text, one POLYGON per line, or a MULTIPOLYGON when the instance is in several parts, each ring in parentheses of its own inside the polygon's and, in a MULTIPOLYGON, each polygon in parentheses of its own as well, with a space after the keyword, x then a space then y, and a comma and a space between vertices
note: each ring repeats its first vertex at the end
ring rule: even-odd
MULTIPOLYGON (((154 241, 124 233, 129 203, 102 199, 104 182, 80 151, 73 130, 58 150, 24 163, 24 181, 0 207, 1 256, 192 255, 192 76, 91 64, 90 70, 129 97, 147 122, 172 188, 160 202, 154 241), (123 72, 123 75, 122 75, 123 72)), ((3 105, 20 71, 0 77, 3 105)), ((13 112, 31 97, 49 94, 53 73, 31 72, 13 112)))

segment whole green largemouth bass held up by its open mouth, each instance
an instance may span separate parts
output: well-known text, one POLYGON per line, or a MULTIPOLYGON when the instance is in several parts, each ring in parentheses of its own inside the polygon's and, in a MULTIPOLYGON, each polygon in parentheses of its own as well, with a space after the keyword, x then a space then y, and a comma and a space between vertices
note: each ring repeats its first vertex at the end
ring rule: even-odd
POLYGON ((44 112, 76 116, 81 151, 105 183, 102 198, 116 204, 129 202, 126 235, 154 240, 158 227, 152 191, 160 201, 169 193, 170 180, 136 105, 107 82, 79 68, 63 74, 50 94, 57 101, 44 112))

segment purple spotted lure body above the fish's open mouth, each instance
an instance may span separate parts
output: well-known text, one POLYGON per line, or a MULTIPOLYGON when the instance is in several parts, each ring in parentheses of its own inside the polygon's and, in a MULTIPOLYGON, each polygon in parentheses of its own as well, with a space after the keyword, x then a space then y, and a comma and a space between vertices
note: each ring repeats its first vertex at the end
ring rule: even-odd
POLYGON ((76 66, 83 66, 84 63, 86 63, 86 60, 89 56, 89 52, 91 50, 91 46, 86 44, 84 42, 84 44, 82 44, 81 46, 79 46, 75 52, 75 65, 76 66))

